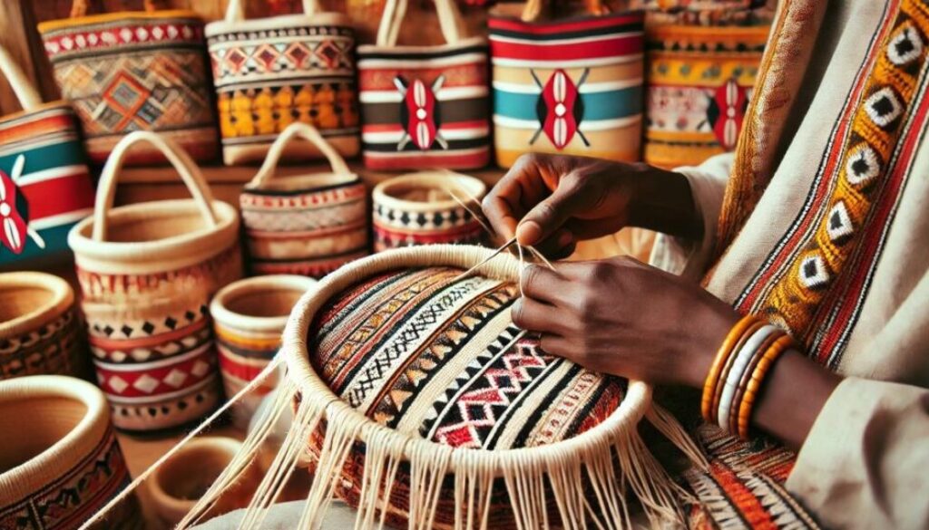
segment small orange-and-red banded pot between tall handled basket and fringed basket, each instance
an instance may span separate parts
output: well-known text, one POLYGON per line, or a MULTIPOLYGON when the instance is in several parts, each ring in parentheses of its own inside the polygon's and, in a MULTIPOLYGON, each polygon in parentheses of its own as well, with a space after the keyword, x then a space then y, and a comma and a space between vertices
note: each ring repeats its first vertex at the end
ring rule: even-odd
MULTIPOLYGON (((219 371, 226 396, 238 394, 281 348, 281 332, 297 300, 316 286, 302 276, 263 276, 230 283, 210 304, 219 371)), ((261 399, 277 385, 271 376, 233 408, 233 421, 245 428, 261 399)))

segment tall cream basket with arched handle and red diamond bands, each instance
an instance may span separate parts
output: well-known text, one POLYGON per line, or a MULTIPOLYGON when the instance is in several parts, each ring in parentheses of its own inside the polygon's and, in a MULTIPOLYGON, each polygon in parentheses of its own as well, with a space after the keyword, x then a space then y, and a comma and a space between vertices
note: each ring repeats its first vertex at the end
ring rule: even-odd
POLYGON ((150 431, 195 420, 219 399, 208 305, 242 277, 239 214, 213 200, 196 164, 175 142, 126 136, 100 175, 94 216, 71 231, 91 352, 113 423, 150 431), (112 208, 124 158, 147 143, 193 194, 112 208))

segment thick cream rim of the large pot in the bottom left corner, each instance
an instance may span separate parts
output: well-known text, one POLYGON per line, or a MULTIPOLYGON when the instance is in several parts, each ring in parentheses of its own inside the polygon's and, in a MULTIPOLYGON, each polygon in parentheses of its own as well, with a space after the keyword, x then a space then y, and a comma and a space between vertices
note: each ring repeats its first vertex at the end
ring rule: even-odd
POLYGON ((36 375, 4 381, 0 385, 0 404, 35 397, 59 397, 86 407, 77 425, 42 452, 6 472, 0 472, 0 500, 3 504, 32 497, 37 487, 48 484, 85 459, 110 428, 110 407, 94 385, 59 375, 36 375))

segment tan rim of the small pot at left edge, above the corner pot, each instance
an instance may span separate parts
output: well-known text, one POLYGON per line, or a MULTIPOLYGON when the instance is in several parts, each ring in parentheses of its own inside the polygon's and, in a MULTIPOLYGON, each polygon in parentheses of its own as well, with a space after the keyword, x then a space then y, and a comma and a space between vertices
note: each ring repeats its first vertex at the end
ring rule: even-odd
POLYGON ((51 293, 51 299, 18 317, 0 321, 0 337, 11 337, 31 331, 63 315, 74 304, 71 285, 62 278, 44 272, 17 271, 0 274, 0 291, 17 287, 48 291, 51 293))

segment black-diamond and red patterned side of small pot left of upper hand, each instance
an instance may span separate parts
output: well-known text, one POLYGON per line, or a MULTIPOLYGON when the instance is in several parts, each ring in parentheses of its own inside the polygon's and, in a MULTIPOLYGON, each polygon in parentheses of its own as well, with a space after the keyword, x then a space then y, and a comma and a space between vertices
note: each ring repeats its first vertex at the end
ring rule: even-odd
POLYGON ((374 252, 435 243, 484 242, 484 228, 459 206, 431 212, 404 211, 374 200, 374 252))

